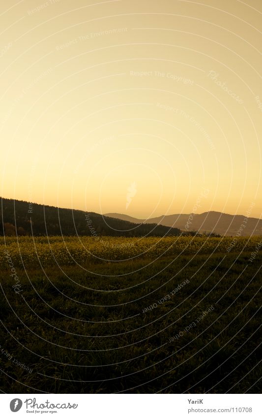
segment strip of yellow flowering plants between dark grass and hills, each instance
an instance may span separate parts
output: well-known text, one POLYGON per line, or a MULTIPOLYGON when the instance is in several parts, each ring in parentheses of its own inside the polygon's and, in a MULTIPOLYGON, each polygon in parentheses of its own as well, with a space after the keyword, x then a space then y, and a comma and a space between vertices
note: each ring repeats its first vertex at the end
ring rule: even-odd
POLYGON ((97 261, 157 258, 187 254, 240 253, 260 249, 262 237, 0 237, 0 265, 6 265, 6 251, 13 263, 43 265, 83 264, 97 261))

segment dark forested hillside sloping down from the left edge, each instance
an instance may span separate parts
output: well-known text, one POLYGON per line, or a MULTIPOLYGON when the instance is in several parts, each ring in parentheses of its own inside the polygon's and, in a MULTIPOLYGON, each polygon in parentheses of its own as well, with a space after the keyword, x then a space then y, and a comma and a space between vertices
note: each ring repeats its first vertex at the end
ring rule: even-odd
POLYGON ((0 198, 0 235, 179 235, 165 225, 127 222, 94 212, 44 206, 22 200, 0 198))

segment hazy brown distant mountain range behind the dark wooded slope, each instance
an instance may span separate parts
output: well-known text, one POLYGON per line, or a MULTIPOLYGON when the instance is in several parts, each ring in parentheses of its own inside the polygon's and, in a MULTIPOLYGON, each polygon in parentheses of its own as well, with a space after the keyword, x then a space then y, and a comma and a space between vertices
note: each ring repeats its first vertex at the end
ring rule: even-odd
POLYGON ((182 231, 198 231, 214 232, 220 235, 236 235, 242 226, 242 236, 250 235, 262 235, 262 219, 248 218, 243 215, 229 215, 222 212, 204 212, 201 214, 175 214, 175 215, 163 215, 157 218, 150 218, 147 220, 132 218, 124 214, 108 213, 105 216, 118 218, 125 221, 132 220, 137 224, 157 224, 172 226, 182 231), (191 223, 190 223, 191 222, 191 223), (188 228, 186 227, 188 225, 188 228))

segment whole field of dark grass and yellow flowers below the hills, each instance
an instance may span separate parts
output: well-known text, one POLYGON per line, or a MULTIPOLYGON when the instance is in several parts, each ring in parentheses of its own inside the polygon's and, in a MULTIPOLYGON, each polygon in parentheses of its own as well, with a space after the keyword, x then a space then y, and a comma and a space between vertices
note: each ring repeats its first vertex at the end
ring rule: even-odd
POLYGON ((262 237, 0 238, 0 389, 260 393, 262 237))

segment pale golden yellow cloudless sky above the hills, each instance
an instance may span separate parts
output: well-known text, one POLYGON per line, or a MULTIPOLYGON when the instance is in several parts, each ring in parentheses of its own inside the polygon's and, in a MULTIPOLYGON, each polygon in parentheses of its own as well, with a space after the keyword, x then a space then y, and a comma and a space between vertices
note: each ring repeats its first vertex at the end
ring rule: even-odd
POLYGON ((0 196, 262 218, 261 0, 9 0, 0 28, 0 196))

